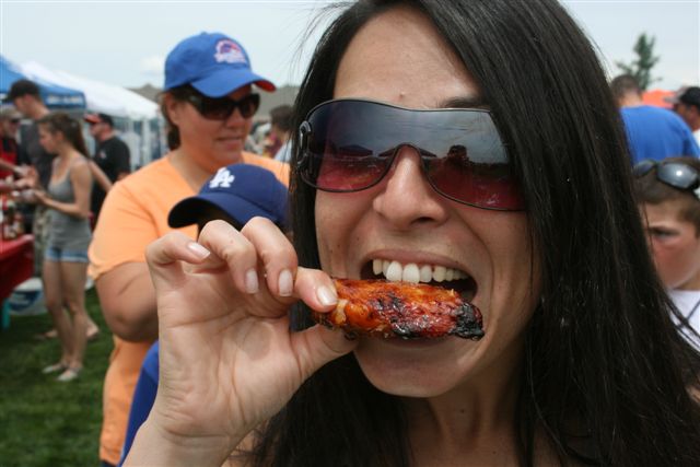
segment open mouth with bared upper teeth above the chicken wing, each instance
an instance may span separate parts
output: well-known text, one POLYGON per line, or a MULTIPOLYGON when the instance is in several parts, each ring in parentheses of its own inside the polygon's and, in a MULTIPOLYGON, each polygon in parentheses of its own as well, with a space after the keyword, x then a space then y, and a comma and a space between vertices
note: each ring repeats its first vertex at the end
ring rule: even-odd
POLYGON ((365 264, 362 279, 386 279, 390 282, 427 283, 433 287, 451 289, 459 296, 471 302, 477 294, 477 282, 467 272, 440 265, 401 264, 396 260, 375 258, 365 264))

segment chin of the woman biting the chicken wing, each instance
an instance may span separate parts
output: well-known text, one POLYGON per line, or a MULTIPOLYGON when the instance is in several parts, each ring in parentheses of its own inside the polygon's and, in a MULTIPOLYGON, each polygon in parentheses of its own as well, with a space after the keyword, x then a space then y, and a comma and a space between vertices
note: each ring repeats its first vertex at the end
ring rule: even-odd
MULTIPOLYGON (((354 354, 366 378, 380 390, 395 396, 436 397, 463 384, 474 366, 469 349, 456 353, 444 349, 460 347, 462 342, 451 346, 455 339, 361 343, 354 354)), ((465 343, 476 348, 474 341, 465 343)))

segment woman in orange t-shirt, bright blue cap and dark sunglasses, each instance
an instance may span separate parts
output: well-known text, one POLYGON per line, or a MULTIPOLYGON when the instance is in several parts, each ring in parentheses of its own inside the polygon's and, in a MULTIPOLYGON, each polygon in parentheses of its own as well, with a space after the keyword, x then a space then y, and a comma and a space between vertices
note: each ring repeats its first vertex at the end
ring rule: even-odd
MULTIPOLYGON (((259 165, 288 183, 289 166, 244 151, 259 95, 275 85, 250 69, 243 46, 220 33, 182 40, 165 60, 161 109, 171 148, 107 194, 90 246, 91 275, 115 349, 105 376, 100 458, 119 462, 133 387, 158 338, 155 291, 145 265, 149 243, 170 232, 170 210, 195 195, 220 167, 259 165)), ((217 183, 228 184, 221 175, 217 183)), ((190 238, 196 227, 180 230, 190 238)))

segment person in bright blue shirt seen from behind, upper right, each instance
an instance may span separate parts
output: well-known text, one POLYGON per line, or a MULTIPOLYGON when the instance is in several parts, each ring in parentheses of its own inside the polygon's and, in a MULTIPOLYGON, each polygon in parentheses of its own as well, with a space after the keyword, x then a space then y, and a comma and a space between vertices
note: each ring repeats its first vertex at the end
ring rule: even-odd
POLYGON ((633 164, 645 159, 700 155, 686 122, 666 108, 644 104, 634 77, 616 77, 610 82, 610 91, 620 107, 633 164))

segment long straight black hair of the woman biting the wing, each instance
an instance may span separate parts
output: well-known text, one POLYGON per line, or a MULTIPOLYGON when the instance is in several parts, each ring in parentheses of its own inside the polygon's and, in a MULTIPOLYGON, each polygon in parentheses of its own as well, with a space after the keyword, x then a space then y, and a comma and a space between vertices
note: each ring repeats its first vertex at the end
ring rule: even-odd
MULTIPOLYGON (((544 435, 567 465, 697 466, 700 357, 677 332, 632 196, 625 133, 591 44, 553 0, 366 0, 318 44, 295 125, 332 98, 350 39, 397 4, 423 12, 489 103, 526 197, 542 295, 527 329, 513 432, 520 464, 544 435)), ((296 153, 299 141, 293 141, 296 153)), ((300 264, 319 267, 315 192, 292 179, 300 264)), ((400 399, 352 355, 314 374, 258 437, 256 465, 401 466, 400 399)))

